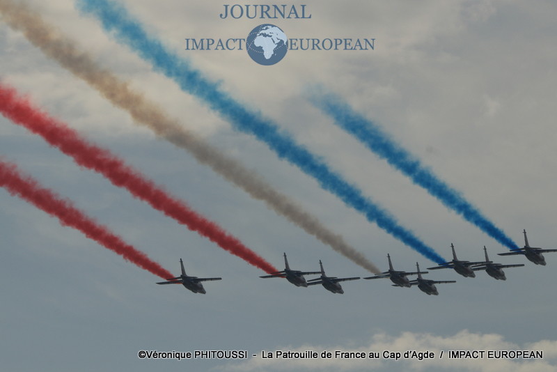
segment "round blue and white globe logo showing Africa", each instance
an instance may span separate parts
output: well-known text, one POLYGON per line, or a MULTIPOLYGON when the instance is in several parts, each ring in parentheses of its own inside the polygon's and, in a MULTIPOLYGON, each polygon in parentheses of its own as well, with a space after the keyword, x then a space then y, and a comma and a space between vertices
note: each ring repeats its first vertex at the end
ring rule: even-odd
POLYGON ((260 24, 246 38, 246 49, 253 61, 260 65, 274 65, 288 51, 288 38, 274 24, 260 24))

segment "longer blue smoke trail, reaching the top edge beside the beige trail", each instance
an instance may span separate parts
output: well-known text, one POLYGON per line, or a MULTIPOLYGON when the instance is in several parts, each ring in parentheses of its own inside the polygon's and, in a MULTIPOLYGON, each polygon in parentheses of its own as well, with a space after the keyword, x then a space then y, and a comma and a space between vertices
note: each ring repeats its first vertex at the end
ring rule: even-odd
POLYGON ((148 36, 141 24, 134 20, 127 10, 109 0, 77 0, 79 10, 95 15, 102 22, 104 29, 115 34, 116 39, 131 47, 146 61, 150 61, 155 70, 173 79, 183 91, 195 95, 229 121, 236 130, 253 134, 274 150, 278 157, 297 165, 302 171, 313 176, 329 192, 336 194, 348 206, 363 213, 370 222, 415 249, 423 256, 436 263, 445 260, 432 248, 427 247, 396 222, 386 210, 375 205, 361 194, 359 189, 347 183, 331 171, 304 146, 297 144, 289 134, 279 132, 278 127, 233 100, 227 93, 219 90, 200 70, 191 67, 188 61, 177 54, 169 52, 159 40, 148 36))

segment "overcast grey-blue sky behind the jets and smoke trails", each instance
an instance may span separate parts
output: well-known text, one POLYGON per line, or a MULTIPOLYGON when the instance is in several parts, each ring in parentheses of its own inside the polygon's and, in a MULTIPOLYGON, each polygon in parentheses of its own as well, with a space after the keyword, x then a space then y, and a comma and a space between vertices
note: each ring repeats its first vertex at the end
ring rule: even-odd
MULTIPOLYGON (((72 0, 29 0, 98 63, 230 157, 320 217, 387 270, 434 265, 347 208, 336 196, 231 125, 119 45, 72 0)), ((480 261, 483 246, 507 281, 452 270, 427 277, 439 296, 350 281, 345 294, 297 288, 231 256, 81 169, 40 137, 0 117, 0 156, 178 274, 222 277, 206 295, 156 286, 123 261, 0 189, 1 364, 10 371, 557 371, 557 254, 547 266, 507 249, 336 127, 306 99, 322 84, 382 126, 439 178, 458 189, 520 247, 556 248, 557 5, 553 1, 305 1, 310 20, 221 20, 223 3, 121 0, 150 33, 203 70, 223 91, 306 145, 441 256, 480 261), (186 51, 185 38, 246 38, 273 23, 290 38, 375 38, 373 51, 289 51, 261 66, 242 51, 186 51), (261 359, 261 350, 544 350, 543 360, 375 362, 261 359), (139 359, 139 350, 248 350, 236 360, 139 359), (257 354, 257 357, 251 357, 257 354), (395 364, 398 363, 398 364, 395 364)), ((244 3, 260 3, 244 1, 244 3)), ((290 4, 285 1, 283 3, 290 4)), ((272 3, 269 3, 272 4, 272 3)), ((0 22, 2 82, 140 169, 218 222, 277 268, 336 277, 370 273, 227 183, 189 153, 158 139, 97 91, 0 22)))

